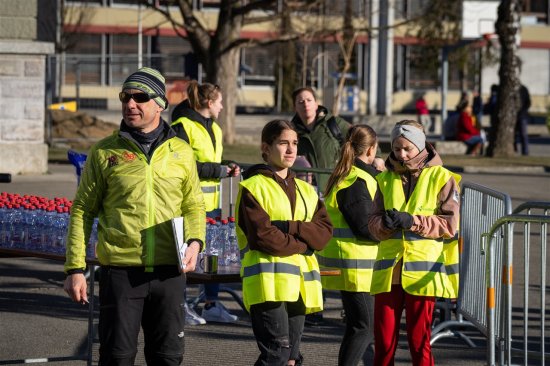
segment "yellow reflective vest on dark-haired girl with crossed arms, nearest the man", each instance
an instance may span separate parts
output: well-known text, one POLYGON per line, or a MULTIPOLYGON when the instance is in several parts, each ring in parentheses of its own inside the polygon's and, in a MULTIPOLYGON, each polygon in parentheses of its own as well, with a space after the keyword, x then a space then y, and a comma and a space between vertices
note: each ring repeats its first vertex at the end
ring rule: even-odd
MULTIPOLYGON (((283 189, 275 180, 261 174, 240 183, 237 207, 240 206, 242 190, 246 188, 271 220, 311 221, 319 202, 317 193, 300 179, 294 182, 297 196, 294 216, 283 189)), ((236 220, 239 222, 238 210, 236 220)), ((236 231, 242 258, 243 302, 248 310, 251 305, 266 301, 297 301, 299 296, 304 301, 306 313, 322 310, 321 276, 315 256, 295 254, 280 257, 250 250, 239 225, 236 225, 236 231)))

